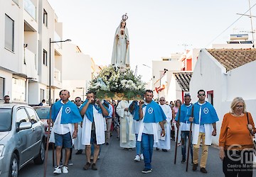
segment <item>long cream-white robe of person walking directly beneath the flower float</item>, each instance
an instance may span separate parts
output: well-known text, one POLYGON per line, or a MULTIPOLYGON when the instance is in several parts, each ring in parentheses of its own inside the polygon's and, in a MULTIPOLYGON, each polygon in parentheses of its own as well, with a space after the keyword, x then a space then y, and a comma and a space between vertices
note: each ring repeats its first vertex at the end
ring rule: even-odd
POLYGON ((120 101, 117 105, 117 114, 120 119, 120 147, 134 148, 136 147, 136 138, 132 133, 133 116, 124 108, 129 108, 132 101, 120 101))

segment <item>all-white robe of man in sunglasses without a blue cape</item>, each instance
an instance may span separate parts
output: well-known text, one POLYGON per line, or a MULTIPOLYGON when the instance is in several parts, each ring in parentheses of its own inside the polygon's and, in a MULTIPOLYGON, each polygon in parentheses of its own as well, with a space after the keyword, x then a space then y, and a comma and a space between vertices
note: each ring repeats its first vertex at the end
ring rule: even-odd
POLYGON ((166 133, 165 137, 161 137, 161 126, 158 123, 158 135, 159 142, 154 143, 154 147, 159 149, 171 149, 171 119, 172 119, 172 112, 171 107, 169 105, 160 105, 161 108, 164 110, 164 114, 166 115, 166 123, 164 124, 164 131, 166 133))

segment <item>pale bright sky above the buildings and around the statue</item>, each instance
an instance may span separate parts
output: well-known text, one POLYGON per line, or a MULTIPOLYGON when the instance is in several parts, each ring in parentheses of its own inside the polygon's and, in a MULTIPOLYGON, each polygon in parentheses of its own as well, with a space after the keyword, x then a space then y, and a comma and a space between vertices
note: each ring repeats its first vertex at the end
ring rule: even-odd
MULTIPOLYGON (((48 0, 63 23, 63 40, 71 39, 96 64, 112 58, 114 32, 127 13, 132 70, 147 81, 152 60, 193 48, 226 43, 230 34, 256 26, 256 0, 48 0), (250 2, 250 6, 249 6, 250 2), (246 13, 250 14, 250 11, 246 13), (238 19, 239 18, 239 19, 238 19), (147 66, 145 67, 144 64, 147 66)), ((249 38, 252 34, 249 33, 249 38)))

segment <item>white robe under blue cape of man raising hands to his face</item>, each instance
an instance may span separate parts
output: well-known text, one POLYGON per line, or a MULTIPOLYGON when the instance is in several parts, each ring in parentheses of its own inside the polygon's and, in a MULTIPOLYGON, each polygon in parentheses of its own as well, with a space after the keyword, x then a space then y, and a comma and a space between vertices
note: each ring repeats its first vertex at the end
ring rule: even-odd
MULTIPOLYGON (((106 129, 106 120, 103 117, 102 113, 98 113, 97 109, 93 108, 93 120, 95 122, 95 132, 96 132, 96 141, 97 144, 105 144, 105 131, 106 129)), ((90 145, 91 139, 91 130, 92 122, 85 115, 82 120, 82 144, 90 145)))

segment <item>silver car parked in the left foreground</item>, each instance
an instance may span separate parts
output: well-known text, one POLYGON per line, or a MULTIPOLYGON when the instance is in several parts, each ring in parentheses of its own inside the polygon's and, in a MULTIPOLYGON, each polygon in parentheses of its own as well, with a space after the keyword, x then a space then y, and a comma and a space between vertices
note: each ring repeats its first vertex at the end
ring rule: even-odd
POLYGON ((45 127, 29 105, 0 104, 0 176, 18 176, 33 159, 45 159, 45 127))

